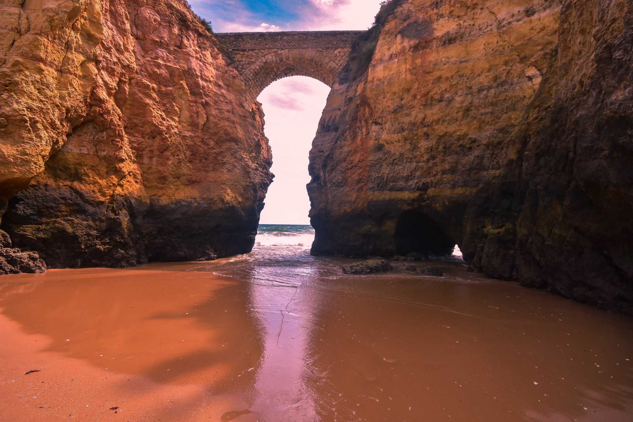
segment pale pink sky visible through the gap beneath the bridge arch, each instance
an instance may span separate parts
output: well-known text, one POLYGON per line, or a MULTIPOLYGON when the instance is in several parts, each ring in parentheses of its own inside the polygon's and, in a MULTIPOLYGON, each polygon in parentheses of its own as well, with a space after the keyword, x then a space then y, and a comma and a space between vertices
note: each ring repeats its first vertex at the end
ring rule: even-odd
POLYGON ((310 225, 306 184, 308 154, 330 87, 306 76, 281 78, 258 96, 275 175, 261 211, 261 225, 310 225))

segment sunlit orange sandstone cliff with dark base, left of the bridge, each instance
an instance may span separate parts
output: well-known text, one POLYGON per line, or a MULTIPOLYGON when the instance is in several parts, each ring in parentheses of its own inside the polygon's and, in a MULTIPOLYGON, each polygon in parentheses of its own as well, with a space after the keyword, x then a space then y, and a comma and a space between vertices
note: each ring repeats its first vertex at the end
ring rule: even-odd
POLYGON ((1 11, 0 214, 14 248, 54 268, 250 251, 272 180, 263 113, 184 1, 1 11))

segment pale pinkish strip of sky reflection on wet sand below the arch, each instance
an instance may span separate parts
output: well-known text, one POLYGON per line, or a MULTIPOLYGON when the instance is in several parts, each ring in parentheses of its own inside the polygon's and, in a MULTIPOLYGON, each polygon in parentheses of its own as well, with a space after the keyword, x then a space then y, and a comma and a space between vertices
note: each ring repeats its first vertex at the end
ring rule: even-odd
MULTIPOLYGON (((280 242, 275 243, 279 246, 280 242)), ((324 299, 314 287, 327 268, 318 268, 308 252, 304 245, 291 244, 271 254, 260 245, 246 259, 194 270, 249 283, 249 307, 258 316, 264 344, 256 368, 256 399, 249 410, 265 420, 320 419, 310 386, 323 375, 313 371, 310 361, 318 330, 314 323, 324 299)))

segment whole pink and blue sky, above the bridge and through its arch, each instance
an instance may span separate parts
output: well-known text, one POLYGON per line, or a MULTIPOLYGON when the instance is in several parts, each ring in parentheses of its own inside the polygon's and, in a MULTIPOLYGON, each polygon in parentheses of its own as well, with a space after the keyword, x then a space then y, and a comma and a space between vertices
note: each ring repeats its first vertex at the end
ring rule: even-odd
MULTIPOLYGON (((381 0, 189 0, 214 32, 365 30, 381 0)), ((275 179, 261 224, 310 224, 308 152, 330 89, 316 79, 277 80, 261 92, 275 179)))

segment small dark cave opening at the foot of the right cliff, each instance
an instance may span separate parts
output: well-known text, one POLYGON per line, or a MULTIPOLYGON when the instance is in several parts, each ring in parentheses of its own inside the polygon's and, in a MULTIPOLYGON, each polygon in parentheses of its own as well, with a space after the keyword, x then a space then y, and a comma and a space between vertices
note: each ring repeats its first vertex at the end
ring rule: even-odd
POLYGON ((396 251, 403 256, 449 255, 456 245, 435 220, 415 209, 409 209, 400 215, 396 223, 394 240, 396 251))

